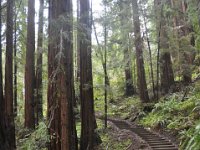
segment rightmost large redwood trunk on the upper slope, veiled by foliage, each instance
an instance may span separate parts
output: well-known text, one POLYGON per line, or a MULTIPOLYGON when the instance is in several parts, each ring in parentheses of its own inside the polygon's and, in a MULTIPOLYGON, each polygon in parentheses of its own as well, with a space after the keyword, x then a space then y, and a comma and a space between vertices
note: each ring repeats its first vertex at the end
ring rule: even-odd
POLYGON ((194 63, 196 53, 195 49, 193 48, 195 46, 195 37, 191 34, 194 31, 189 17, 187 17, 187 3, 188 2, 186 1, 180 1, 179 3, 177 3, 175 0, 171 1, 171 7, 178 7, 179 9, 179 13, 177 13, 176 16, 173 16, 173 27, 176 33, 175 36, 177 39, 179 39, 177 45, 179 47, 179 55, 182 57, 180 59, 180 67, 182 70, 183 82, 186 85, 192 82, 192 65, 194 63), (192 36, 188 38, 189 35, 192 36), (182 40, 183 38, 184 41, 182 40))

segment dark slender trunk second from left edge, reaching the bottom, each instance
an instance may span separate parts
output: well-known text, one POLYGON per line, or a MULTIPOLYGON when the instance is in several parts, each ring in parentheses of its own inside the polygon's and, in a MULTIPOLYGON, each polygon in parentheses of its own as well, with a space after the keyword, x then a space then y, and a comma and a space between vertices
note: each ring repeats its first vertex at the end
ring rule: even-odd
POLYGON ((6 137, 9 150, 16 149, 15 124, 13 112, 13 1, 7 1, 7 29, 6 29, 6 66, 5 66, 5 113, 6 113, 6 137))

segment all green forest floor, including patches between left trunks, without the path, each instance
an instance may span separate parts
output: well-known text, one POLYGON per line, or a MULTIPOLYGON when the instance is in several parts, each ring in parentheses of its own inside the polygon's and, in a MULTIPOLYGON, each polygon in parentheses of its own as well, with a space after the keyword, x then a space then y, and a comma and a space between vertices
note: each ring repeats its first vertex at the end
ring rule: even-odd
MULTIPOLYGON (((171 139, 179 145, 180 150, 187 147, 200 147, 200 80, 183 87, 179 92, 162 97, 157 103, 143 105, 138 96, 117 98, 109 101, 108 116, 118 120, 126 120, 134 125, 145 128, 171 139), (188 89, 187 94, 185 91, 188 89), (152 107, 151 111, 144 111, 144 107, 152 107), (198 145, 199 144, 199 145, 198 145)), ((102 144, 97 150, 139 150, 149 149, 145 141, 137 134, 128 130, 119 129, 112 122, 104 128, 103 118, 104 101, 95 100, 97 115, 97 132, 101 136, 102 144)), ((22 111, 23 112, 23 111, 22 111)), ((21 114, 23 116, 23 114, 21 114)), ((23 128, 23 117, 16 118, 16 136, 18 149, 46 149, 48 142, 46 120, 37 126, 34 132, 23 128)), ((80 139, 80 120, 77 121, 77 134, 80 139)), ((194 149, 196 150, 196 149, 194 149)), ((197 149, 199 150, 199 149, 197 149)))

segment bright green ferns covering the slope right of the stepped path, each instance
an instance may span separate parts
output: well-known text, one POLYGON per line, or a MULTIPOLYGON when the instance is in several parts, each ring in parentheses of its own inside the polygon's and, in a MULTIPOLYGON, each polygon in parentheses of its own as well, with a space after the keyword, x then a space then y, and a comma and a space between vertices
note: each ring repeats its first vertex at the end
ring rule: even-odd
POLYGON ((172 94, 157 103, 151 113, 140 123, 152 128, 165 128, 179 133, 182 150, 198 150, 200 147, 200 94, 199 84, 182 101, 183 93, 172 94))

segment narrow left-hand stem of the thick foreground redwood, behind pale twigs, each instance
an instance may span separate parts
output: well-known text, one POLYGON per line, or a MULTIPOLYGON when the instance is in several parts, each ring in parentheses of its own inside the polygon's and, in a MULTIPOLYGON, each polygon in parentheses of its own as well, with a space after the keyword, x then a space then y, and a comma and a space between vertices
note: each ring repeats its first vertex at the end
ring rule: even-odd
POLYGON ((57 94, 57 74, 56 70, 56 59, 57 54, 57 39, 54 31, 54 21, 57 16, 57 1, 49 1, 49 45, 48 45, 48 120, 49 120, 49 135, 50 143, 48 146, 49 150, 59 150, 61 149, 60 143, 60 102, 58 101, 57 94))

